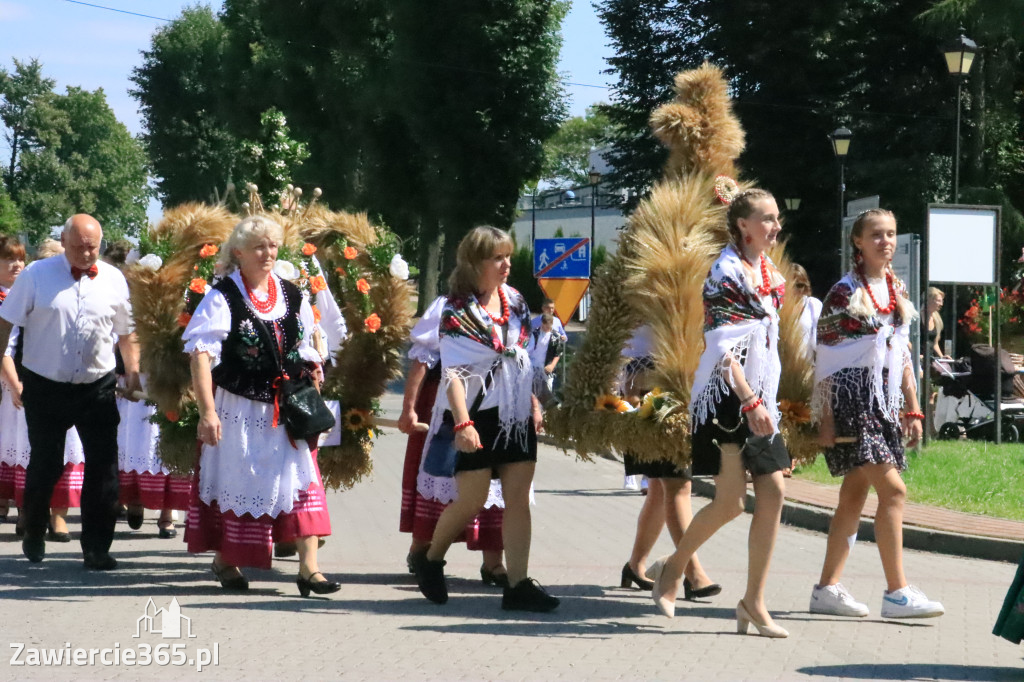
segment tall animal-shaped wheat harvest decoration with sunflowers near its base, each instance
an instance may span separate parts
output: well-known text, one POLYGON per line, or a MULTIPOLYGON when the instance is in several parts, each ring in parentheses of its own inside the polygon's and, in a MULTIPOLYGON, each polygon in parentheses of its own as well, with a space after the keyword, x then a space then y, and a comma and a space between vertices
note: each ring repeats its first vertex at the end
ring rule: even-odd
MULTIPOLYGON (((615 450, 680 466, 690 461, 688 402, 705 346, 703 281, 729 240, 729 199, 753 183, 733 179, 743 131, 722 71, 706 63, 680 73, 675 93, 650 117, 670 150, 664 177, 630 216, 616 255, 594 276, 588 332, 568 367, 563 401, 546 416, 549 434, 582 459, 615 450), (651 327, 649 382, 658 388, 638 410, 611 409, 607 396, 620 383, 623 348, 641 324, 651 327)), ((770 255, 788 274, 784 248, 770 255)), ((799 309, 783 305, 783 347, 800 340, 799 318, 799 309)), ((795 459, 813 459, 804 421, 810 364, 805 352, 783 351, 782 367, 781 428, 795 459)))

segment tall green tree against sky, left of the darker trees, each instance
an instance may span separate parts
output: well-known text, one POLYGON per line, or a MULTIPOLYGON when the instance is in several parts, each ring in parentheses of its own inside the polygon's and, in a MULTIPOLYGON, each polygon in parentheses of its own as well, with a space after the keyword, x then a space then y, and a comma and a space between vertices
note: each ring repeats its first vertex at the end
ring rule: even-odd
POLYGON ((165 205, 209 199, 238 164, 241 138, 224 113, 232 98, 223 73, 226 37, 209 7, 187 8, 157 31, 142 66, 132 71, 130 94, 139 102, 142 140, 165 205))

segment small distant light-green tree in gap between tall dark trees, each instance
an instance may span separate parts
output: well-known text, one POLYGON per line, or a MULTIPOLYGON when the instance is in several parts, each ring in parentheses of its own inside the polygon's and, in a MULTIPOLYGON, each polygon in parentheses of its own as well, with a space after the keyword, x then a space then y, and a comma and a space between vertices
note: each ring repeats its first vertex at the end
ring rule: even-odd
POLYGON ((585 116, 573 116, 544 143, 541 181, 552 187, 574 187, 590 182, 590 153, 606 144, 612 135, 605 111, 588 106, 585 116))

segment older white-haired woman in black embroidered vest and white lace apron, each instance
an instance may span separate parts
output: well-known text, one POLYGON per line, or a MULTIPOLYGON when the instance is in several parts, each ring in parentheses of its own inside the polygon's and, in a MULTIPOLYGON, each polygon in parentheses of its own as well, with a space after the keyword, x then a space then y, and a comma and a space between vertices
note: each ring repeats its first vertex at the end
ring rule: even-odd
POLYGON ((220 252, 225 275, 184 331, 202 441, 185 541, 189 552, 216 552, 226 590, 248 589, 240 566, 269 568, 272 543, 294 541, 299 593, 329 594, 341 586, 316 563, 317 538, 331 532, 316 458, 279 424, 279 380, 323 376, 312 309, 272 271, 282 240, 273 220, 240 222, 220 252))

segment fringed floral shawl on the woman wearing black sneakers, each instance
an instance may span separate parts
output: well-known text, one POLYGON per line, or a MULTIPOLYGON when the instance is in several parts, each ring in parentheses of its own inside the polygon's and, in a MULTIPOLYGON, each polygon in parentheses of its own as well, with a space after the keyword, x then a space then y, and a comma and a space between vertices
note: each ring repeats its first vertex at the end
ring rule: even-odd
MULTIPOLYGON (((467 408, 480 391, 484 394, 498 391, 501 430, 496 443, 503 438, 506 442, 515 438, 525 447, 534 381, 534 370, 526 353, 529 308, 515 289, 502 285, 502 291, 509 305, 507 344, 502 338, 502 328, 494 324, 475 296, 449 299, 444 304, 439 329, 444 383, 437 391, 429 436, 437 431, 444 411, 450 409, 449 385, 461 381, 466 388, 467 408), (488 372, 493 373, 490 388, 484 382, 488 372)), ((429 446, 429 436, 426 446, 429 446)))

